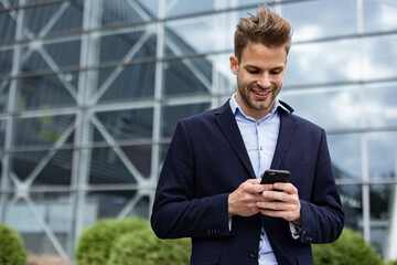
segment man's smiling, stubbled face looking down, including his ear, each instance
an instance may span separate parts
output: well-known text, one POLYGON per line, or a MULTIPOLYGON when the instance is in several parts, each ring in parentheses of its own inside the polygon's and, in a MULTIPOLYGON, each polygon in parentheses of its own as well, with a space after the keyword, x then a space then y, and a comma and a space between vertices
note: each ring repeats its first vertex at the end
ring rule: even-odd
POLYGON ((237 75, 236 100, 244 113, 256 120, 270 113, 282 86, 287 65, 283 46, 268 47, 249 43, 242 60, 230 56, 230 70, 237 75))

